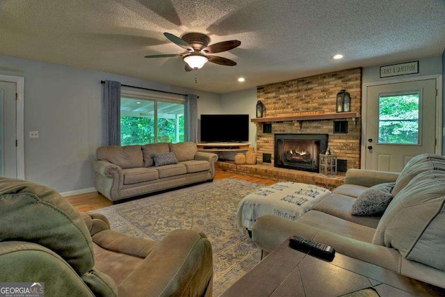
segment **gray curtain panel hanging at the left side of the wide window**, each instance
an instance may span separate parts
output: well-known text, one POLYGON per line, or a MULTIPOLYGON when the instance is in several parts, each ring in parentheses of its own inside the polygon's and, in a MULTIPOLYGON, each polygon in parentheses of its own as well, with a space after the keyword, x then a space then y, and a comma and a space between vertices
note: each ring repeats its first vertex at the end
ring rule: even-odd
POLYGON ((102 92, 102 145, 120 145, 120 82, 105 81, 102 92))

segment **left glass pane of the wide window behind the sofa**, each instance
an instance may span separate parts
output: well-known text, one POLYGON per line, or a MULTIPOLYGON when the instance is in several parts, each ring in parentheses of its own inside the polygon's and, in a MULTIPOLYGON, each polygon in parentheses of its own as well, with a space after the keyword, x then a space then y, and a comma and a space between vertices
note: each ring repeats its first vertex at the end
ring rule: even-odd
POLYGON ((154 143, 154 137, 154 101, 121 97, 121 144, 144 145, 154 143))

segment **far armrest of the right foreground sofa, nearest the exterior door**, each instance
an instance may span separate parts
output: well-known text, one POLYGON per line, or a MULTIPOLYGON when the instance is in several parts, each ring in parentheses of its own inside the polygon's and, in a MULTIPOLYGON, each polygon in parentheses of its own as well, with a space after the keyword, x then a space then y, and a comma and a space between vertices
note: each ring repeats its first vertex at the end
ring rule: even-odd
POLYGON ((345 184, 356 184, 358 186, 374 186, 385 182, 396 182, 399 173, 364 170, 364 169, 349 169, 346 172, 345 184))

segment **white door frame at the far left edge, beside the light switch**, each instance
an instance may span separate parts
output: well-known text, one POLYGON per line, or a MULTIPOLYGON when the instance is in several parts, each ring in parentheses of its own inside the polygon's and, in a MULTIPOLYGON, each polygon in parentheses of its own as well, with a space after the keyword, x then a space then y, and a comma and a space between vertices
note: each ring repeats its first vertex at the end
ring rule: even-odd
POLYGON ((24 77, 13 77, 0 74, 0 81, 16 83, 17 86, 17 178, 25 178, 25 146, 24 146, 24 77))

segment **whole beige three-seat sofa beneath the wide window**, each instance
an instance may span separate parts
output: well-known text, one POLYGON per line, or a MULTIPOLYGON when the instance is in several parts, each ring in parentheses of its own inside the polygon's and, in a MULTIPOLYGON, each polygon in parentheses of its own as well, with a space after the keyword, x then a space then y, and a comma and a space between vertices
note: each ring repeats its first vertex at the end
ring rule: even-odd
POLYGON ((176 188, 215 177, 216 154, 198 152, 195 143, 105 146, 93 161, 95 188, 122 202, 138 195, 176 188), (167 164, 167 165, 163 165, 167 164))

